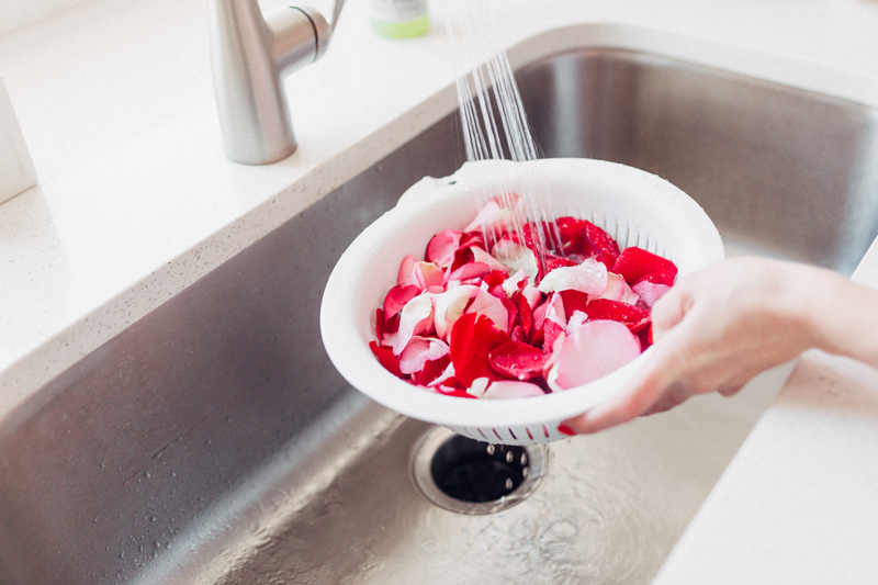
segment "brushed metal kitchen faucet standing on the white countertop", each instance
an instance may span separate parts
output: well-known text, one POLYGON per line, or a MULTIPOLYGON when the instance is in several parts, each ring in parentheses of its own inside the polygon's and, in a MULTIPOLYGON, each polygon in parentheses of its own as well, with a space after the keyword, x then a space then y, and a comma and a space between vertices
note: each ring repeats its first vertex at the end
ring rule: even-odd
POLYGON ((286 158, 296 147, 283 78, 317 60, 333 23, 308 7, 282 5, 263 15, 257 0, 209 0, 211 65, 226 156, 244 165, 286 158))

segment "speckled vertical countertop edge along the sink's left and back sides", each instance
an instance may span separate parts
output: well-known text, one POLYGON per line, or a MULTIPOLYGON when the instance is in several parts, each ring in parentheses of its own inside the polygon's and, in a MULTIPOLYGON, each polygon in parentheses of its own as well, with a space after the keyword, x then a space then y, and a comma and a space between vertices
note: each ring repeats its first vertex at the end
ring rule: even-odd
MULTIPOLYGON (((878 80, 849 71, 633 24, 595 22, 551 29, 510 44, 513 69, 572 49, 634 50, 811 91, 876 110, 878 80)), ((85 356, 273 232, 306 206, 372 167, 457 109, 453 82, 330 160, 267 196, 249 213, 180 251, 124 290, 95 300, 50 334, 0 363, 0 421, 85 356), (363 155, 368 153, 368 155, 363 155), (180 268, 188 267, 181 273, 180 268), (194 269, 192 268, 194 267, 194 269), (155 291, 167 291, 155 294, 155 291), (94 326, 100 324, 100 326, 94 326), (72 342, 71 340, 75 340, 72 342)), ((43 400, 41 397, 41 400, 43 400)))

